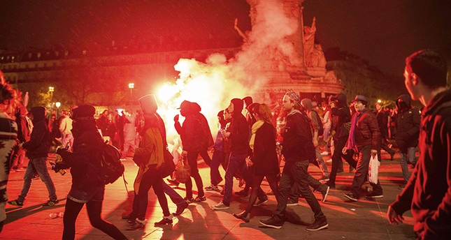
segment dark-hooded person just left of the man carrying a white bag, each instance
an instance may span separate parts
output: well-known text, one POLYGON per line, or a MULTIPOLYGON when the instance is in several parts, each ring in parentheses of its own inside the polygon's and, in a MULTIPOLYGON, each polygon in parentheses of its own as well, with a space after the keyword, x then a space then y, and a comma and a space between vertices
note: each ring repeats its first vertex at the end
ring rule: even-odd
MULTIPOLYGON (((346 96, 343 93, 338 93, 334 98, 331 98, 331 112, 333 118, 332 133, 334 137, 334 147, 335 151, 332 155, 332 169, 329 175, 329 181, 326 183, 327 186, 335 188, 335 179, 338 172, 339 165, 343 165, 343 160, 349 163, 351 167, 357 167, 357 161, 352 158, 354 153, 350 150, 343 154, 342 150, 348 141, 351 114, 346 103, 346 96)), ((343 169, 343 166, 341 167, 343 169)))

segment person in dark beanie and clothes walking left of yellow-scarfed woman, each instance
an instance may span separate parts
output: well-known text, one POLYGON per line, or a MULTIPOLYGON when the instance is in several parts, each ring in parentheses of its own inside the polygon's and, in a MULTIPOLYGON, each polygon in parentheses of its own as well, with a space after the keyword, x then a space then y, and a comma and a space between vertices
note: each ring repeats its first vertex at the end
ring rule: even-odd
MULTIPOLYGON (((250 129, 248 122, 241 113, 243 100, 240 98, 232 99, 228 109, 231 112, 231 123, 227 132, 222 130, 222 136, 230 141, 231 153, 225 174, 224 196, 221 202, 210 206, 213 210, 229 209, 232 188, 234 187, 234 174, 238 169, 246 182, 250 183, 252 181, 252 176, 248 171, 248 165, 245 160, 249 153, 250 129)), ((258 197, 261 202, 268 199, 261 188, 259 188, 258 197)))

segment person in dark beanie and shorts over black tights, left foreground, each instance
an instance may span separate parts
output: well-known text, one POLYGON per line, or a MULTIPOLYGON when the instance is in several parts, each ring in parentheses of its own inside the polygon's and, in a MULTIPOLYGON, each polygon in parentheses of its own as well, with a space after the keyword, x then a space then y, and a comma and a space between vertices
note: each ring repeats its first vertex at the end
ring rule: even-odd
MULTIPOLYGON (((86 204, 87 214, 93 227, 113 239, 127 239, 115 225, 101 218, 105 182, 101 167, 103 148, 106 145, 97 130, 94 119, 95 108, 80 105, 72 112, 73 151, 58 149, 62 163, 55 163, 53 170, 71 167, 72 186, 64 209, 62 239, 75 239, 76 220, 86 204)), ((118 155, 118 153, 117 153, 118 155)), ((123 172, 123 169, 122 169, 123 172)))

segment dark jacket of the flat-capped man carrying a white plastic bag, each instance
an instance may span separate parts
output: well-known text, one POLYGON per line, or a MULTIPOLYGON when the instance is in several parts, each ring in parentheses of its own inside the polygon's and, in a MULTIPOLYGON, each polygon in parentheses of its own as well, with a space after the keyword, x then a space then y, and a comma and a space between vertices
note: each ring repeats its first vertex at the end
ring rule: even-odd
MULTIPOLYGON (((352 116, 352 121, 357 117, 359 113, 355 113, 352 116)), ((380 149, 380 130, 378 119, 376 119, 375 115, 366 108, 362 110, 359 119, 357 120, 357 126, 354 132, 355 137, 355 146, 356 147, 364 147, 366 145, 371 145, 371 149, 378 150, 380 149)))

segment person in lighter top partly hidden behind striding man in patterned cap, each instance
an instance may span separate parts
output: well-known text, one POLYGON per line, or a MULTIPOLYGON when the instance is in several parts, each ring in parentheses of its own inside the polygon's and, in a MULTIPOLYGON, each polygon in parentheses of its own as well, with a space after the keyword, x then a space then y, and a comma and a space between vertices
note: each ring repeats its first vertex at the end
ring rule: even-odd
POLYGON ((322 172, 322 178, 319 180, 329 181, 329 171, 327 170, 326 163, 324 163, 324 160, 322 159, 322 155, 320 153, 320 144, 318 143, 320 140, 320 136, 324 132, 324 129, 322 128, 322 120, 320 118, 320 115, 318 115, 318 113, 315 110, 313 110, 312 100, 310 100, 309 98, 304 98, 303 100, 301 100, 301 105, 306 110, 308 117, 313 123, 312 126, 313 145, 315 145, 315 154, 317 161, 315 165, 320 167, 320 170, 322 172))

